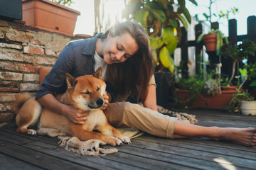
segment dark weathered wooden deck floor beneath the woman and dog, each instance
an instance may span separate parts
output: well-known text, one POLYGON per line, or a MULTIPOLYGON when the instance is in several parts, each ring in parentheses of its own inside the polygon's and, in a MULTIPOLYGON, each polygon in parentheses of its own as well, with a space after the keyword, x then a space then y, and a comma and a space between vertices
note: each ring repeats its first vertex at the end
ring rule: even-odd
MULTIPOLYGON (((192 110, 198 125, 256 127, 256 116, 225 111, 192 110)), ((110 147, 110 146, 107 146, 110 147)), ((0 129, 0 169, 256 169, 256 147, 212 140, 167 140, 144 135, 119 152, 91 157, 67 152, 58 139, 31 137, 0 129)))

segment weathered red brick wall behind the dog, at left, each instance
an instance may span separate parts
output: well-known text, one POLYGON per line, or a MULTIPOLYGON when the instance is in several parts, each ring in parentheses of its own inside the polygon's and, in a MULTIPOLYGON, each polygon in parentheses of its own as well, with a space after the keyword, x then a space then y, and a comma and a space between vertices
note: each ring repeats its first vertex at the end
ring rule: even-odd
POLYGON ((0 127, 14 120, 11 103, 17 94, 25 91, 36 94, 39 68, 53 67, 70 40, 85 37, 53 34, 0 20, 0 127))

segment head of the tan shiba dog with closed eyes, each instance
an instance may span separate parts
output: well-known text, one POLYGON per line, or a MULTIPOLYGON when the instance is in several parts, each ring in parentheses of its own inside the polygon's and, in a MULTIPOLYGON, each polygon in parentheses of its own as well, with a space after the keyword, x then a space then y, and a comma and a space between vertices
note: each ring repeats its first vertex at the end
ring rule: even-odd
POLYGON ((102 79, 102 68, 99 67, 92 75, 73 78, 66 74, 68 89, 66 94, 70 98, 70 104, 83 111, 101 108, 104 105, 103 94, 106 84, 102 79))

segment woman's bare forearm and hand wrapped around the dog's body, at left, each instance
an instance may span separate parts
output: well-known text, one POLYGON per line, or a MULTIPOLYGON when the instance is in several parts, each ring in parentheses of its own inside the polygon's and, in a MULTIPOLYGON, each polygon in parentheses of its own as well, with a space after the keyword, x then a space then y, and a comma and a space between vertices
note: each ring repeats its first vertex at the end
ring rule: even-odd
POLYGON ((38 102, 50 111, 65 115, 73 123, 83 125, 87 120, 87 115, 90 111, 81 111, 73 106, 60 103, 52 94, 38 98, 38 102))

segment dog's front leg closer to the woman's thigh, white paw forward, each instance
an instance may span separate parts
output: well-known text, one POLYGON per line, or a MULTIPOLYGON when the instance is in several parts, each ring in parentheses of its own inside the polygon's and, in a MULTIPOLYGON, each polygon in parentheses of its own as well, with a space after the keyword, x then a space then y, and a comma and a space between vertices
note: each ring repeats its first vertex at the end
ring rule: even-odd
POLYGON ((102 126, 98 128, 98 130, 105 135, 117 137, 122 142, 131 144, 131 140, 129 139, 129 137, 123 135, 116 128, 112 127, 112 125, 108 124, 108 125, 102 126))

